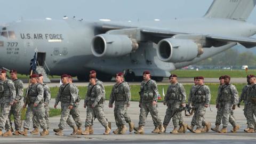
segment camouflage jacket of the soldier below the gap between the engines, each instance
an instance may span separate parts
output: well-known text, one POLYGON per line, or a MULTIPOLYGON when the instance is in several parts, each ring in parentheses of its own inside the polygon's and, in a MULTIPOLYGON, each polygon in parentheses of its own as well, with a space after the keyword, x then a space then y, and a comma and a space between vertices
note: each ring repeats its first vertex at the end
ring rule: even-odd
POLYGON ((140 103, 147 103, 150 101, 157 101, 159 95, 156 81, 149 79, 148 82, 142 81, 140 85, 140 103))

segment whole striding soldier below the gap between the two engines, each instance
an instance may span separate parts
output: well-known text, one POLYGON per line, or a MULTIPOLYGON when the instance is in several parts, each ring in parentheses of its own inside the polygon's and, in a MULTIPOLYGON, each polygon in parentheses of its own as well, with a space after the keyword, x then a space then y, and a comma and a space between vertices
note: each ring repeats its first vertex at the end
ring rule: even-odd
POLYGON ((139 129, 135 131, 136 134, 145 133, 143 127, 146 124, 147 115, 150 112, 152 119, 154 119, 155 129, 152 131, 154 133, 164 132, 164 126, 161 118, 158 116, 157 109, 157 97, 158 89, 156 82, 150 78, 150 72, 143 72, 143 81, 140 86, 140 116, 139 116, 139 129))

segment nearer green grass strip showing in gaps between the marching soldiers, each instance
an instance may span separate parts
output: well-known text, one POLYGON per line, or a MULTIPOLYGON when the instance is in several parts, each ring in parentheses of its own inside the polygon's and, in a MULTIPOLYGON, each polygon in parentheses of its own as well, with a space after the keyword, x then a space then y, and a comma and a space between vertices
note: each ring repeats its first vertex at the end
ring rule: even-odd
MULTIPOLYGON (((219 84, 206 84, 206 85, 208 85, 210 87, 211 96, 212 96, 211 104, 215 104, 215 99, 217 97, 217 91, 218 91, 219 84)), ((241 91, 245 84, 234 84, 234 85, 236 86, 238 93, 241 94, 241 91)), ((188 98, 191 86, 192 86, 191 84, 184 85, 184 87, 186 89, 187 98, 188 98)), ((167 87, 168 87, 168 85, 158 85, 159 93, 161 95, 163 95, 163 88, 164 88, 164 92, 166 92, 167 87)), ((50 89, 51 89, 52 98, 56 98, 59 87, 50 87, 50 89)), ((79 95, 81 96, 82 99, 84 99, 86 91, 87 91, 87 86, 79 86, 78 89, 79 89, 79 95)), ((112 86, 105 86, 105 90, 106 90, 106 99, 109 100, 109 95, 111 93, 112 86)), ((132 95, 131 100, 132 101, 140 100, 139 93, 138 93, 139 91, 140 91, 140 85, 131 85, 131 95, 132 95)), ((160 100, 160 101, 162 101, 162 100, 160 100)))

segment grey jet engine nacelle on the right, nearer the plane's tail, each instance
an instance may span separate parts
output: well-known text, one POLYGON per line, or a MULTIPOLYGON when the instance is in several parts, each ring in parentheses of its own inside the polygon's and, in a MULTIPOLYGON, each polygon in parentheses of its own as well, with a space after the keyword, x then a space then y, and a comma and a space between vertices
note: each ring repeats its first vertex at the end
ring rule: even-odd
POLYGON ((203 53, 200 44, 190 39, 166 38, 158 43, 157 56, 165 62, 185 62, 203 53))

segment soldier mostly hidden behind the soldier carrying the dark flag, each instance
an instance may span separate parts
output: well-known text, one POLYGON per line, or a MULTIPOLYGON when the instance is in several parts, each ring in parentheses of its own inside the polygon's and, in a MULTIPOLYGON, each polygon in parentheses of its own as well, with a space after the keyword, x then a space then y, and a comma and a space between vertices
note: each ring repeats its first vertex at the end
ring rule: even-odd
MULTIPOLYGON (((46 124, 47 124, 47 130, 49 132, 49 128, 50 128, 50 122, 49 122, 49 111, 50 111, 50 107, 49 107, 49 103, 50 103, 50 100, 51 100, 51 91, 50 91, 50 88, 49 86, 47 86, 44 82, 43 82, 43 75, 42 74, 39 74, 38 75, 38 78, 37 78, 37 83, 39 84, 42 84, 43 85, 43 88, 44 88, 44 109, 45 109, 45 121, 46 121, 46 124)), ((38 127, 39 127, 39 122, 37 120, 38 118, 36 118, 36 116, 33 117, 33 127, 34 127, 34 130, 31 131, 30 133, 31 134, 39 134, 39 130, 38 130, 38 127)), ((49 133, 47 133, 48 135, 49 133)))

